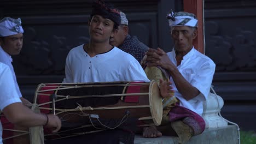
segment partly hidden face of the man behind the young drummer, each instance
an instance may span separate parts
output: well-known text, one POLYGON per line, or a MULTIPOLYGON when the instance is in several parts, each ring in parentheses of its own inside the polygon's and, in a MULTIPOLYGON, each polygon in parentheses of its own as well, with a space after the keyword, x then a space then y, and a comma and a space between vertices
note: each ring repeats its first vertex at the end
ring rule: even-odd
POLYGON ((113 37, 110 38, 109 44, 111 44, 113 46, 119 46, 119 45, 123 44, 127 34, 128 34, 128 26, 119 25, 118 32, 116 34, 114 34, 113 37))

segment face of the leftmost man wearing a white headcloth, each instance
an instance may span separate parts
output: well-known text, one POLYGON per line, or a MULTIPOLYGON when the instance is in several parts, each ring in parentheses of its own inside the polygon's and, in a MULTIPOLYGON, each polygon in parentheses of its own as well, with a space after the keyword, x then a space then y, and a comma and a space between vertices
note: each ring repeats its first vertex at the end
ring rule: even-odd
POLYGON ((23 34, 18 33, 0 39, 1 46, 9 55, 19 55, 23 45, 23 34))

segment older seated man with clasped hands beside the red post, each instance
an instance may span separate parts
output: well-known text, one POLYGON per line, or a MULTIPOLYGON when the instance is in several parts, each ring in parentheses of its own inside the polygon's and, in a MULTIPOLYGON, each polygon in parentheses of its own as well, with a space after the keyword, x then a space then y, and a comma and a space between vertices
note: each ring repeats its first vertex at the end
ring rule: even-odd
POLYGON ((144 128, 143 136, 170 134, 173 129, 179 136, 179 142, 184 143, 205 129, 205 121, 201 117, 203 101, 210 92, 216 65, 193 46, 193 40, 197 36, 197 19, 194 14, 171 11, 167 14, 167 19, 174 42, 173 50, 165 53, 160 48, 149 49, 146 53, 146 65, 160 66, 170 74, 174 96, 178 102, 167 113, 170 127, 147 127, 144 128))

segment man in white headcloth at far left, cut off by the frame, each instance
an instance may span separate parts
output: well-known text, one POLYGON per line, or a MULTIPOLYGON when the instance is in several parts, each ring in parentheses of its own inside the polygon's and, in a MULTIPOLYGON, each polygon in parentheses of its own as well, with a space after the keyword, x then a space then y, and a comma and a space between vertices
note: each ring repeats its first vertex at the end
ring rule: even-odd
POLYGON ((19 55, 23 44, 24 30, 21 26, 21 20, 11 17, 4 17, 0 20, 0 62, 7 64, 13 75, 15 89, 24 105, 30 105, 30 101, 23 98, 18 86, 11 56, 19 55))

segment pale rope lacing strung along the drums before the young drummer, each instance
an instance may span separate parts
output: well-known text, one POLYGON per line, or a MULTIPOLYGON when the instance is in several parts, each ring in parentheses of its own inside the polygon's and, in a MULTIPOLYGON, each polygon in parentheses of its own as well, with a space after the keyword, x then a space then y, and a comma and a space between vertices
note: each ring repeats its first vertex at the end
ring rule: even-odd
MULTIPOLYGON (((131 82, 134 82, 134 81, 131 81, 131 82)), ((51 83, 52 85, 54 85, 54 83, 51 83)), ((113 84, 113 85, 93 85, 93 86, 81 86, 79 85, 75 85, 75 86, 71 86, 68 84, 67 85, 63 85, 63 83, 60 83, 61 86, 57 86, 58 88, 55 88, 56 86, 46 86, 44 85, 44 87, 53 87, 53 89, 45 89, 45 90, 39 90, 38 88, 38 91, 36 93, 36 95, 48 95, 50 97, 51 94, 45 94, 45 93, 42 93, 42 92, 50 92, 50 91, 56 91, 56 90, 61 90, 61 89, 71 89, 71 88, 82 88, 82 87, 108 87, 108 86, 127 86, 127 83, 124 83, 124 84, 113 84)), ((82 84, 82 83, 80 83, 82 84)), ((148 86, 148 83, 130 83, 129 86, 148 86)), ((85 97, 120 97, 120 96, 132 96, 132 95, 149 95, 151 94, 150 92, 147 92, 147 93, 132 93, 132 94, 104 94, 104 95, 83 95, 83 96, 71 96, 71 95, 57 95, 56 92, 55 92, 55 97, 57 98, 60 98, 60 99, 55 99, 54 102, 56 103, 57 101, 61 101, 61 100, 67 100, 67 99, 77 99, 77 98, 85 98, 85 97)), ((46 104, 52 104, 53 101, 49 101, 49 102, 46 102, 46 103, 43 103, 43 104, 39 104, 39 106, 42 106, 42 105, 46 105, 46 104)), ((98 128, 98 126, 100 126, 98 123, 97 125, 95 125, 95 122, 93 122, 93 119, 94 117, 91 117, 91 115, 89 113, 86 113, 85 111, 91 111, 91 110, 108 110, 108 109, 126 109, 126 108, 138 108, 138 107, 152 107, 151 105, 140 105, 140 106, 119 106, 119 107, 91 107, 91 106, 88 106, 88 107, 82 107, 80 104, 78 104, 78 106, 75 108, 75 109, 54 109, 55 111, 60 111, 59 113, 62 113, 62 112, 69 112, 67 113, 66 115, 80 115, 80 116, 88 116, 90 121, 91 121, 91 124, 89 125, 83 125, 83 126, 80 126, 79 128, 73 128, 73 129, 80 129, 80 128, 84 128, 84 127, 94 127, 98 130, 95 130, 95 131, 86 131, 86 132, 83 132, 83 133, 73 133, 73 134, 68 134, 68 136, 65 136, 66 134, 62 134, 64 135, 64 137, 61 137, 61 138, 57 138, 57 139, 63 139, 65 137, 71 137, 71 136, 77 136, 77 135, 84 135, 84 134, 89 134, 89 133, 95 133, 97 131, 103 131, 103 130, 106 130, 106 128, 108 129, 115 129, 117 127, 119 127, 121 124, 123 124, 127 118, 129 117, 129 115, 126 113, 123 118, 120 118, 119 122, 117 123, 117 125, 115 125, 114 127, 110 128, 108 127, 108 125, 104 125, 101 120, 99 118, 96 118, 95 120, 100 123, 102 125, 103 128, 98 128), (81 113, 73 113, 72 111, 81 111, 81 113)), ((40 107, 40 109, 45 109, 45 110, 53 110, 53 109, 50 109, 50 108, 47 108, 47 107, 40 107)), ((56 113, 56 115, 59 115, 59 113, 56 113)), ((66 115, 62 116, 65 117, 66 115)), ((61 119, 62 119, 61 118, 61 119)), ((150 117, 152 118, 152 117, 150 117)), ((149 118, 147 118, 149 119, 149 118)), ((68 119, 65 119, 65 120, 62 120, 62 121, 68 121, 68 119)), ((152 124, 150 124, 152 125, 152 124)), ((67 131, 70 131, 70 130, 73 130, 73 129, 68 129, 67 131)), ((66 131, 66 130, 65 130, 66 131)), ((54 134, 48 134, 48 135, 58 135, 60 133, 62 133, 64 131, 59 131, 57 133, 54 133, 54 134)), ((48 135, 45 135, 45 136, 48 136, 48 135)))

